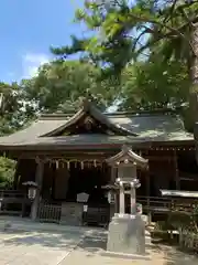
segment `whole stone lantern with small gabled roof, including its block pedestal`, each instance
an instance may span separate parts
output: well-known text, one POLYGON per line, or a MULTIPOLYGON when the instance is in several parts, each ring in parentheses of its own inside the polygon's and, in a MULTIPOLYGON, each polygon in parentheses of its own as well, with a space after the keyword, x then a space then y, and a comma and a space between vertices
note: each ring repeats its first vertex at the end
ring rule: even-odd
POLYGON ((121 152, 107 159, 117 168, 116 182, 119 186, 119 213, 109 224, 107 251, 120 254, 145 254, 145 222, 142 213, 136 211, 136 189, 141 186, 136 177, 136 168, 147 168, 147 160, 123 146, 121 152), (125 194, 130 190, 131 213, 125 213, 125 194))

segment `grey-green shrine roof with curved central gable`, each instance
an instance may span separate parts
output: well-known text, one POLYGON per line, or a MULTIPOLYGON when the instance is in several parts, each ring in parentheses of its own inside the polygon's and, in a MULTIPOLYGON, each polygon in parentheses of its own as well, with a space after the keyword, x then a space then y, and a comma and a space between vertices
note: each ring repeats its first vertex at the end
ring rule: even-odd
POLYGON ((138 114, 102 114, 92 104, 84 105, 74 116, 70 114, 41 115, 29 127, 10 136, 0 137, 1 149, 7 147, 24 148, 30 146, 45 147, 47 145, 64 148, 64 146, 97 146, 123 145, 133 142, 194 142, 194 135, 185 130, 183 119, 175 113, 138 113, 138 114), (54 137, 75 124, 81 115, 91 115, 101 124, 106 124, 113 136, 107 135, 74 135, 54 137))

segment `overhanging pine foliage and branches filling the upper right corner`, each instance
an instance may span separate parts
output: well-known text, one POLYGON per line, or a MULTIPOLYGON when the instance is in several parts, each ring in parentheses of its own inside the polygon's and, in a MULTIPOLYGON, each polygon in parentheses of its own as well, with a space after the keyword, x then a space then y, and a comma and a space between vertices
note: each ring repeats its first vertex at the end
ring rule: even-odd
POLYGON ((100 67, 102 80, 110 78, 122 88, 122 97, 119 94, 121 109, 176 107, 188 100, 189 109, 185 116, 188 128, 193 129, 198 119, 195 117, 198 112, 195 99, 198 83, 197 1, 88 0, 84 9, 77 10, 75 22, 84 23, 92 34, 84 39, 73 36, 70 46, 52 49, 58 59, 81 52, 84 59, 100 67), (128 75, 129 63, 140 60, 150 63, 135 65, 133 73, 138 81, 130 76, 127 83, 133 85, 125 86, 123 75, 128 75))

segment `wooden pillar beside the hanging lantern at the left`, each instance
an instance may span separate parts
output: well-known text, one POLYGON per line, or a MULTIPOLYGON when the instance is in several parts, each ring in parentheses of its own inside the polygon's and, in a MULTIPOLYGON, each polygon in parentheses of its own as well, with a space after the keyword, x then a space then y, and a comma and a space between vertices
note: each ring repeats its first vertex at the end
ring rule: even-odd
POLYGON ((40 197, 41 197, 41 189, 42 189, 42 182, 43 182, 43 172, 44 172, 44 162, 41 159, 36 159, 36 172, 35 172, 35 182, 37 184, 36 195, 34 198, 34 201, 32 203, 31 209, 31 219, 33 221, 37 218, 37 210, 40 205, 40 197))

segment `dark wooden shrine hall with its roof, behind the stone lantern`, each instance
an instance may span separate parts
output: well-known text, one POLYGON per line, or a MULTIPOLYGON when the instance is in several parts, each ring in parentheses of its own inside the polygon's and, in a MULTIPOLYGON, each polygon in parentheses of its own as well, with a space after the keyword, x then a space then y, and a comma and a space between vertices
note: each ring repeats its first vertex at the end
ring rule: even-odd
POLYGON ((124 145, 148 161, 147 170, 138 169, 138 197, 198 184, 194 135, 170 109, 111 114, 84 100, 76 114, 43 114, 29 127, 0 137, 1 155, 16 160, 13 189, 24 191, 24 182, 36 182, 37 208, 64 206, 76 214, 79 193, 89 194, 89 205, 107 204, 107 191, 118 177, 107 159, 124 145))

